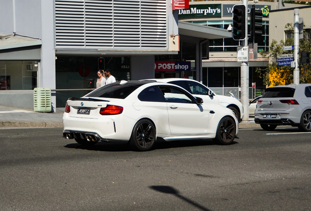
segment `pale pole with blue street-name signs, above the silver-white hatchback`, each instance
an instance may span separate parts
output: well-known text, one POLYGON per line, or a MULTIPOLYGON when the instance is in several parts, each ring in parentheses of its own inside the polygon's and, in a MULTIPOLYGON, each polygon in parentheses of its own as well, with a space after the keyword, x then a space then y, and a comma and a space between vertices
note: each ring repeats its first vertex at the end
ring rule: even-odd
POLYGON ((294 9, 294 65, 295 65, 293 72, 294 84, 299 84, 298 51, 299 51, 299 9, 294 9))

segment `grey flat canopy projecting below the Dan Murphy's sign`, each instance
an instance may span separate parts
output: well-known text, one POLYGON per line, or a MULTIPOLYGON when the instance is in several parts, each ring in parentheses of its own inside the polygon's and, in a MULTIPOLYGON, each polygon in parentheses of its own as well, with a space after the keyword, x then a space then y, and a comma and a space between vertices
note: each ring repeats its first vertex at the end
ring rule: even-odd
POLYGON ((185 21, 178 21, 178 31, 179 35, 186 35, 209 40, 232 37, 231 32, 226 29, 220 29, 212 26, 205 26, 185 21))

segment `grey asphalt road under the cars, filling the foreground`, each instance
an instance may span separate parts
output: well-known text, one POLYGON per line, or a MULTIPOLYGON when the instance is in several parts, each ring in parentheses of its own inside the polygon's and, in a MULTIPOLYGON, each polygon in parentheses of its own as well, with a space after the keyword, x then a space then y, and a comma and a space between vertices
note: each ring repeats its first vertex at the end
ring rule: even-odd
POLYGON ((85 148, 62 128, 0 129, 0 211, 311 211, 311 133, 85 148))

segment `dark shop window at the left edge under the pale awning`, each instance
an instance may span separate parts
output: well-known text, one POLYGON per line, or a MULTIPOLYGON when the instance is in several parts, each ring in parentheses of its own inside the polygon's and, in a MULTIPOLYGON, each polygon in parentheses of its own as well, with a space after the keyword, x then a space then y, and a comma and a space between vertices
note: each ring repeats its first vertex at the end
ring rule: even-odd
POLYGON ((37 84, 37 61, 0 61, 0 90, 33 90, 37 84))

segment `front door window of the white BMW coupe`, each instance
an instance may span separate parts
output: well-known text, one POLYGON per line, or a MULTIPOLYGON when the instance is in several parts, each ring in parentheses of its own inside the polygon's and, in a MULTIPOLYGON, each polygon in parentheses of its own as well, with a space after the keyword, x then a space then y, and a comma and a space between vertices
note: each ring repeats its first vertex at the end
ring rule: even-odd
POLYGON ((165 98, 165 101, 168 103, 193 103, 192 98, 181 89, 168 86, 160 86, 159 88, 165 98))

